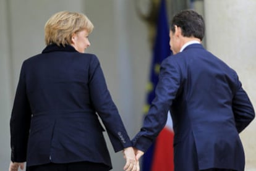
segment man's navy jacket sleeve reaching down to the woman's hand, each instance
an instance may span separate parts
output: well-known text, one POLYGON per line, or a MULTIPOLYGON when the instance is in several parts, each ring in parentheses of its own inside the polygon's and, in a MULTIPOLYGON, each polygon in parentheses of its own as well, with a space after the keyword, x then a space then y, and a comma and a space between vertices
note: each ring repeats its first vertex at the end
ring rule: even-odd
POLYGON ((135 148, 145 152, 166 125, 168 111, 181 85, 181 72, 173 57, 163 60, 158 84, 148 114, 143 121, 143 127, 134 137, 135 148))

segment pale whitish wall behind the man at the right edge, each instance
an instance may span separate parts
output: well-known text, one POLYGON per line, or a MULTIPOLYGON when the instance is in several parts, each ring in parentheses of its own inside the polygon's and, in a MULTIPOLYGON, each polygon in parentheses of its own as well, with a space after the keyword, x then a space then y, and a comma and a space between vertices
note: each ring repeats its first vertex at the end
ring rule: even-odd
MULTIPOLYGON (((256 107, 255 0, 205 0, 207 49, 237 71, 256 107)), ((256 170, 256 119, 241 133, 246 170, 256 170)))

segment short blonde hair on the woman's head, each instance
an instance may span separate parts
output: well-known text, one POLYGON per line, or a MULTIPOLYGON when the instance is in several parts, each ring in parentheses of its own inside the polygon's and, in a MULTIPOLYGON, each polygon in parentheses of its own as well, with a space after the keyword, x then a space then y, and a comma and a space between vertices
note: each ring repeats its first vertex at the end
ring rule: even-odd
POLYGON ((71 44, 72 35, 87 30, 92 33, 92 22, 86 15, 79 12, 61 11, 49 18, 45 23, 45 44, 66 46, 71 44))

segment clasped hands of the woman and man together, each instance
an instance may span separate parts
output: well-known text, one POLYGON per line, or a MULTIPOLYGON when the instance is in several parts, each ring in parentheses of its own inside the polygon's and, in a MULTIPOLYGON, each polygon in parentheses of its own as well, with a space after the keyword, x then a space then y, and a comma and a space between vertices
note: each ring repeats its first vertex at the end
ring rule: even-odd
POLYGON ((124 165, 124 170, 126 171, 139 171, 140 163, 139 159, 143 156, 144 152, 140 151, 136 148, 125 148, 124 151, 124 159, 126 159, 126 165, 124 165))

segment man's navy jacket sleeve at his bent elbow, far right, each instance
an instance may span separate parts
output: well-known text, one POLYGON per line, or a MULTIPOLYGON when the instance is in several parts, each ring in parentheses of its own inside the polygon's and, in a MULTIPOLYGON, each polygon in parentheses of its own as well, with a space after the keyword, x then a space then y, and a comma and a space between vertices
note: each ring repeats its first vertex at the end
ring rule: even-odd
POLYGON ((239 81, 237 75, 236 80, 237 86, 233 98, 232 108, 237 131, 241 133, 241 131, 244 130, 244 128, 247 127, 250 122, 252 122, 255 117, 255 112, 252 102, 250 102, 247 93, 242 88, 241 81, 239 81))

